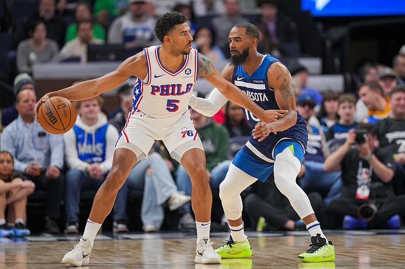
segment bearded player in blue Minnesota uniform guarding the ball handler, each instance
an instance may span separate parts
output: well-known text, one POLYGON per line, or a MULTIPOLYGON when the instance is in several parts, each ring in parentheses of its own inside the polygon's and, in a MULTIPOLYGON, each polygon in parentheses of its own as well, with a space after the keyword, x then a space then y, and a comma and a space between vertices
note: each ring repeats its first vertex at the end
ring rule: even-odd
MULTIPOLYGON (((323 234, 307 194, 295 182, 308 133, 306 121, 295 108, 291 75, 278 59, 257 51, 258 41, 259 31, 254 25, 236 24, 229 33, 231 61, 222 75, 260 107, 285 109, 287 112, 284 117, 265 123, 254 112, 243 109, 254 130, 246 145, 236 154, 220 185, 231 236, 215 251, 223 258, 251 256, 252 250, 243 230, 240 193, 257 180, 265 181, 274 171, 277 188, 289 199, 311 234, 311 248, 300 254, 298 260, 333 261, 334 246, 323 234)), ((208 99, 192 97, 190 105, 200 113, 212 116, 225 102, 221 93, 214 89, 208 99)))

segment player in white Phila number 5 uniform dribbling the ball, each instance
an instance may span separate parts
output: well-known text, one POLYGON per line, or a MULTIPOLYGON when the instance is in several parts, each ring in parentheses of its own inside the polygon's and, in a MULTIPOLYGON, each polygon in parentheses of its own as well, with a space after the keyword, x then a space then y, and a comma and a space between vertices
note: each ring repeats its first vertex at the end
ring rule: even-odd
POLYGON ((191 47, 192 37, 184 15, 166 13, 158 18, 155 33, 161 46, 145 48, 126 59, 117 70, 97 79, 45 94, 36 104, 52 96, 69 100, 89 99, 114 89, 129 77, 138 78, 133 109, 121 132, 111 172, 94 197, 83 237, 62 262, 81 266, 89 263, 95 235, 114 205, 117 191, 131 168, 146 156, 155 140, 162 140, 172 157, 187 170, 192 182, 191 205, 197 227, 195 262, 221 263, 210 242, 212 194, 201 141, 188 109, 193 85, 205 77, 232 102, 248 109, 264 122, 283 117, 285 110, 265 111, 226 81, 205 56, 191 47))

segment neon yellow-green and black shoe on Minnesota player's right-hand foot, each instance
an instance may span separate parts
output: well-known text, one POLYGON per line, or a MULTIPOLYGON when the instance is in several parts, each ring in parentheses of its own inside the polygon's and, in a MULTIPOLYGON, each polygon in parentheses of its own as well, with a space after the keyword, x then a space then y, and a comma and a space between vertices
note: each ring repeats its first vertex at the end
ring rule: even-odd
POLYGON ((299 261, 321 262, 335 259, 335 247, 331 241, 321 237, 321 234, 311 237, 310 249, 298 256, 299 261))

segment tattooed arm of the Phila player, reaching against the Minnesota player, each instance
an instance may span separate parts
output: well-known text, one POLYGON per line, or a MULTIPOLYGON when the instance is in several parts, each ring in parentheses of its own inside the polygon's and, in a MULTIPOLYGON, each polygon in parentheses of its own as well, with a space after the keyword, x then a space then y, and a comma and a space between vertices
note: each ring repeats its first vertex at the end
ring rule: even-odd
MULTIPOLYGON (((246 94, 244 94, 238 87, 233 85, 230 81, 224 79, 219 71, 215 69, 211 61, 204 55, 198 54, 198 73, 211 83, 232 103, 235 103, 243 108, 246 108, 260 120, 264 122, 273 122, 283 115, 284 111, 277 110, 265 111, 263 108, 253 102, 246 94)), ((224 72, 228 72, 229 64, 225 67, 224 72)))

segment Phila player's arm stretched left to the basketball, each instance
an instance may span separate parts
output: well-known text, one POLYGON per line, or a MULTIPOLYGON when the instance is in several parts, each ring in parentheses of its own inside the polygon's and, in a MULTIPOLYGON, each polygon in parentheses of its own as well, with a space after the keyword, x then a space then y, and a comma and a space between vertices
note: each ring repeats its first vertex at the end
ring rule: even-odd
POLYGON ((138 54, 129 57, 128 59, 123 61, 115 71, 104 75, 103 77, 83 81, 79 84, 59 91, 46 93, 41 99, 39 99, 39 101, 35 105, 35 118, 38 120, 37 114, 39 111, 39 107, 49 97, 62 96, 69 99, 70 101, 85 100, 117 88, 132 75, 143 79, 144 77, 146 77, 147 71, 145 68, 146 60, 144 59, 144 54, 141 53, 142 52, 139 52, 138 54), (139 72, 138 70, 140 70, 141 72, 139 72), (144 71, 142 72, 142 70, 144 71), (139 74, 137 72, 139 72, 139 74))

